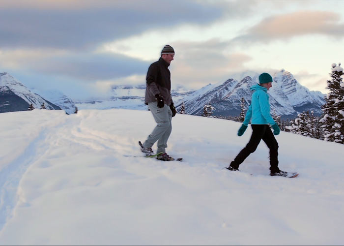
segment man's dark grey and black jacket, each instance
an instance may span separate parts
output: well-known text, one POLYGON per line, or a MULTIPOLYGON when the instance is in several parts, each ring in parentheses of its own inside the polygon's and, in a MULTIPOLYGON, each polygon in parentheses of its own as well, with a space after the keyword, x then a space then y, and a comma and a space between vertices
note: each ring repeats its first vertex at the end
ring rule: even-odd
POLYGON ((147 72, 147 87, 144 103, 156 102, 155 95, 161 94, 165 104, 168 106, 173 103, 171 97, 171 73, 169 63, 160 58, 159 61, 152 63, 147 72))

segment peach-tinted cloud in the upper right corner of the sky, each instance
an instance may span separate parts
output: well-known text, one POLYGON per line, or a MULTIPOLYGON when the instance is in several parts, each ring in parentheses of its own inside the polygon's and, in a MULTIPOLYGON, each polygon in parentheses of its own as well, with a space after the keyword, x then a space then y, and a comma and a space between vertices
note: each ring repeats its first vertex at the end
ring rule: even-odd
POLYGON ((343 37, 344 24, 340 23, 340 14, 327 11, 301 11, 272 16, 263 19, 248 29, 246 34, 232 41, 269 42, 307 34, 343 37))

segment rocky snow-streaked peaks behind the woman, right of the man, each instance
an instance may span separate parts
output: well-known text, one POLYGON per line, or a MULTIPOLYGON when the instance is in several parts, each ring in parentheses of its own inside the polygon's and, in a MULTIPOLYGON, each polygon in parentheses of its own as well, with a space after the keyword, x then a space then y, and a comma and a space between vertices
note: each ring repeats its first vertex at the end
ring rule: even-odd
MULTIPOLYGON (((191 115, 201 115, 205 104, 211 104, 215 110, 215 116, 238 116, 241 111, 241 98, 246 102, 246 108, 251 103, 253 91, 250 87, 258 83, 258 73, 246 72, 234 75, 239 79, 230 78, 224 83, 207 85, 195 91, 182 100, 185 112, 191 115)), ((313 111, 315 115, 321 115, 321 105, 325 103, 325 94, 312 92, 301 86, 293 75, 281 70, 273 76, 273 86, 268 91, 271 112, 282 118, 294 118, 302 111, 313 111)), ((177 109, 181 102, 178 101, 177 109)))

